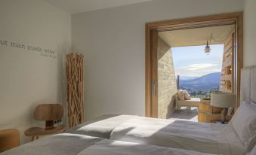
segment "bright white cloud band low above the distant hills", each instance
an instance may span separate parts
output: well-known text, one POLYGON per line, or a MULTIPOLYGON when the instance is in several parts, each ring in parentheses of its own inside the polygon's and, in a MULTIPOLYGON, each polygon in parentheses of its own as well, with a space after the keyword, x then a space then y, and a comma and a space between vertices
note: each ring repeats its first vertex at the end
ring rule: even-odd
POLYGON ((221 71, 221 65, 215 63, 195 63, 185 67, 175 68, 175 74, 180 76, 202 76, 221 71))

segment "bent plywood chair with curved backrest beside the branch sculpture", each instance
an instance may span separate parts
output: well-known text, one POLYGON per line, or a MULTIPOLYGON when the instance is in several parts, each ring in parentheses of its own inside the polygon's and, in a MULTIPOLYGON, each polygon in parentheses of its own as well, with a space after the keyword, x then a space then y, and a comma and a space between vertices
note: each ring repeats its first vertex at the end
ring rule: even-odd
POLYGON ((38 139, 39 135, 51 135, 65 131, 64 125, 54 127, 54 120, 63 117, 63 107, 60 104, 42 104, 35 108, 34 119, 45 121, 45 128, 31 127, 26 129, 24 134, 32 136, 31 141, 38 139))

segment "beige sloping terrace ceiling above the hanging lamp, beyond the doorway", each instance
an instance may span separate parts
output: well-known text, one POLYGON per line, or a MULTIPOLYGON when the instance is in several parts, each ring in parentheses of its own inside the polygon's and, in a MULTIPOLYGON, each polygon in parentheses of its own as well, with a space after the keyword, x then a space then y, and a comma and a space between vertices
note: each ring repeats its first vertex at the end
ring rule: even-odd
MULTIPOLYGON (((162 38, 171 47, 184 47, 205 45, 208 38, 213 38, 217 41, 223 41, 227 35, 235 28, 234 25, 227 26, 212 26, 196 29, 182 29, 159 32, 159 37, 162 38)), ((211 39, 211 44, 222 44, 211 39)))

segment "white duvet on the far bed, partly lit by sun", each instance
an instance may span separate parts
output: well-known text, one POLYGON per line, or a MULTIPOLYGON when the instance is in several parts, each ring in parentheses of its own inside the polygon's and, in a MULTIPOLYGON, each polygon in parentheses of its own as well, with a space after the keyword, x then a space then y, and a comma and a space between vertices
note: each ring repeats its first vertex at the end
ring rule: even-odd
POLYGON ((230 125, 183 120, 133 117, 116 126, 110 139, 203 153, 242 155, 246 152, 230 125))

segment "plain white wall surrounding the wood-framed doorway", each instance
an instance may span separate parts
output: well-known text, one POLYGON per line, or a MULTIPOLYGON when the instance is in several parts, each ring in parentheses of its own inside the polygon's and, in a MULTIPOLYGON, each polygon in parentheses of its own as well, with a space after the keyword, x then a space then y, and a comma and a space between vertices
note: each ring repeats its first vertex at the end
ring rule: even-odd
POLYGON ((145 113, 145 23, 243 10, 243 0, 156 0, 72 15, 85 54, 85 120, 145 113))

